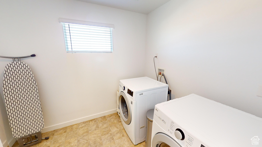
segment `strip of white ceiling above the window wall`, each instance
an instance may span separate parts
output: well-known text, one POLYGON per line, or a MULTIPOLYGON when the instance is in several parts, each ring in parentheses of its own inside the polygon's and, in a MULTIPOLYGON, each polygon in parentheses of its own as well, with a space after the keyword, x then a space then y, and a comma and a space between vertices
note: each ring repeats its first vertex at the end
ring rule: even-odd
POLYGON ((170 0, 78 0, 107 7, 148 14, 170 0))

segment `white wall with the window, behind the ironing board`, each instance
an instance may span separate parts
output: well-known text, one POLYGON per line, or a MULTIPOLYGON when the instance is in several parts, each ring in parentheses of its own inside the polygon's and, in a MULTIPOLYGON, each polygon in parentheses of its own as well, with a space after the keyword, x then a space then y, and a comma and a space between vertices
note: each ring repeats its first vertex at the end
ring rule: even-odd
MULTIPOLYGON (((119 80, 144 76, 145 14, 75 0, 4 0, 0 20, 1 56, 36 54, 22 61, 37 81, 45 128, 116 112, 119 80), (58 18, 114 24, 113 53, 66 53, 58 18)), ((0 59, 1 77, 11 61, 0 59)))

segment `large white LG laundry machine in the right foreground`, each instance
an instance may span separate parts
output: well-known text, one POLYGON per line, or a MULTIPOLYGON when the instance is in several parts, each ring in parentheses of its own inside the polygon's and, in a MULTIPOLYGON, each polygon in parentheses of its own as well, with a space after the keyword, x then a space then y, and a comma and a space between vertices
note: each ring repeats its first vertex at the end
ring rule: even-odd
POLYGON ((155 106, 152 147, 262 146, 262 118, 190 94, 155 106), (257 141, 257 145, 255 144, 257 141), (161 144, 163 143, 163 144, 161 144))

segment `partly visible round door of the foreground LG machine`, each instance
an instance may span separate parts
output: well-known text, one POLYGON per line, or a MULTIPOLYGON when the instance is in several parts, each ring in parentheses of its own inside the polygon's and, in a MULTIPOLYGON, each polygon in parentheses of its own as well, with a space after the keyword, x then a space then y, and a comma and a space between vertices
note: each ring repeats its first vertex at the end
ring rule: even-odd
POLYGON ((157 133, 152 140, 152 147, 181 147, 173 138, 164 133, 157 133))

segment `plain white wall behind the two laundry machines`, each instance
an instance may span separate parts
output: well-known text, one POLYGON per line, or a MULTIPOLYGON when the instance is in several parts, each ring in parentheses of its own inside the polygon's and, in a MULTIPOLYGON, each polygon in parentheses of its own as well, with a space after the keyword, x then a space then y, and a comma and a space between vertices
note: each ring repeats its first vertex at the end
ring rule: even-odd
POLYGON ((262 117, 262 1, 171 0, 147 16, 146 76, 262 117))

